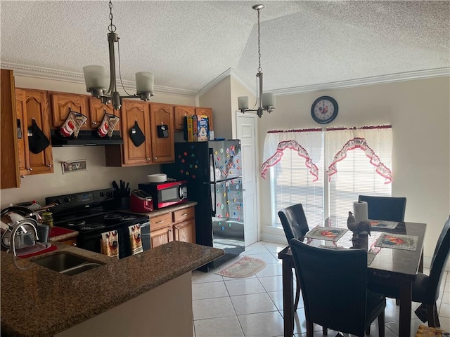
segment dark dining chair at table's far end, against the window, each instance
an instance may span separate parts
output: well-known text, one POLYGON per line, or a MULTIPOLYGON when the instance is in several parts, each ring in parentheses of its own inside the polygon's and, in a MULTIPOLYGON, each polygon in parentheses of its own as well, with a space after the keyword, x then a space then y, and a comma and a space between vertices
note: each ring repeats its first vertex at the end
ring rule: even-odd
POLYGON ((358 201, 367 202, 369 219, 385 221, 405 220, 405 197, 375 197, 372 195, 360 195, 358 201))

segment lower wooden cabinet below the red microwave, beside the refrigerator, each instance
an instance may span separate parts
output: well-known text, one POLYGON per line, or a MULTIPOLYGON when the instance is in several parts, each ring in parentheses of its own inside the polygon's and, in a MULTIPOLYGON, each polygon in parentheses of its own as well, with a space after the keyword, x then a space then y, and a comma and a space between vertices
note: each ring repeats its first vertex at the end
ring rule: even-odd
POLYGON ((174 240, 195 244, 194 206, 150 217, 151 248, 174 240))

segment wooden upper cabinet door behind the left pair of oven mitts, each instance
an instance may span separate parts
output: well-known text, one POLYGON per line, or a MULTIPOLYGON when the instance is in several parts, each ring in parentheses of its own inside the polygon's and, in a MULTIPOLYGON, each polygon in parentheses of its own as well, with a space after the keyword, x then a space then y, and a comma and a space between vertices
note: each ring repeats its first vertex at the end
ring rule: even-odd
MULTIPOLYGON (((87 121, 82 125, 82 130, 91 129, 89 120, 89 95, 78 95, 76 93, 58 93, 49 91, 53 118, 51 121, 53 128, 59 128, 68 119, 69 112, 79 112, 87 117, 87 121)), ((103 118, 102 118, 103 119, 103 118)), ((95 127, 94 127, 95 128, 95 127)))

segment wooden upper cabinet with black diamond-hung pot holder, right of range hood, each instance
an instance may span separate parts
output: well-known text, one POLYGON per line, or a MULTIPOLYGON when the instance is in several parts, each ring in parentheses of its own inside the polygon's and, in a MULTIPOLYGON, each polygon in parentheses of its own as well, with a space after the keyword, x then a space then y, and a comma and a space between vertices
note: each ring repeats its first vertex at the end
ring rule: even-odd
POLYGON ((151 164, 150 104, 138 100, 123 100, 121 110, 124 144, 105 146, 106 166, 151 164), (138 137, 140 133, 143 137, 138 137), (130 135, 135 141, 141 138, 143 142, 134 143, 130 135))

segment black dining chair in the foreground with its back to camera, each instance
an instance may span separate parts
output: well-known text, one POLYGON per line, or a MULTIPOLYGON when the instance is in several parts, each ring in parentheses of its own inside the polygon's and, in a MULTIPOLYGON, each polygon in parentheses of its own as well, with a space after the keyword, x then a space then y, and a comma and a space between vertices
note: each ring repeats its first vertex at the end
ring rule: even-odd
POLYGON ((300 277, 307 336, 313 324, 363 337, 378 317, 378 334, 385 336, 385 296, 367 290, 366 249, 323 249, 290 240, 300 277))

